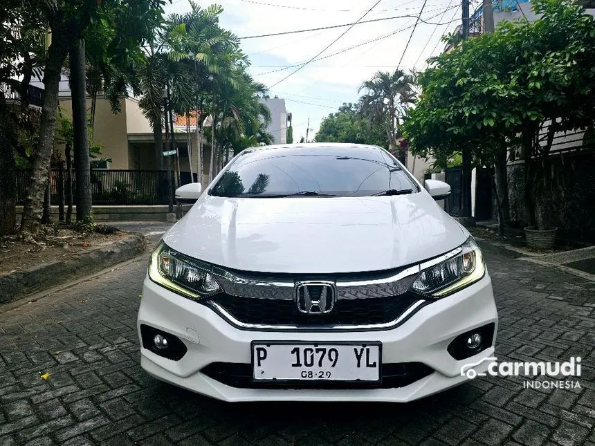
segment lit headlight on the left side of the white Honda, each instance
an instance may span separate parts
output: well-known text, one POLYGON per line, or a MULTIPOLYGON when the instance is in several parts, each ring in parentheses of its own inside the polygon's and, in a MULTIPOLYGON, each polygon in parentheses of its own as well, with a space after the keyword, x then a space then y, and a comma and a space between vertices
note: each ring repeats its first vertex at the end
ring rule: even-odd
POLYGON ((170 249, 163 241, 151 254, 149 277, 190 299, 200 299, 221 291, 209 266, 170 249))

